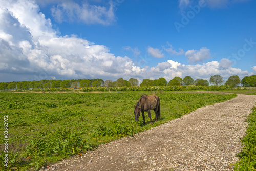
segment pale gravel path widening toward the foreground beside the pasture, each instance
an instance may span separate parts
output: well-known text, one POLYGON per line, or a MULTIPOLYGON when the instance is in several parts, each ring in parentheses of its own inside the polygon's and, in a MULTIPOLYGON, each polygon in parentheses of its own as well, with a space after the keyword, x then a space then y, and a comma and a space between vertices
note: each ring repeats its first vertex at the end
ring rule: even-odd
POLYGON ((255 103, 256 96, 238 95, 46 170, 233 170, 255 103))

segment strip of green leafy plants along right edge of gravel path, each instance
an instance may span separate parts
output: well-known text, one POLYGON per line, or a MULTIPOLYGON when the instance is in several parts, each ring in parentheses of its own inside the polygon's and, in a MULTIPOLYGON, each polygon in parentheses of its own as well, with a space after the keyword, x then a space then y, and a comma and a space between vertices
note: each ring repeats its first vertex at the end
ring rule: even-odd
POLYGON ((241 139, 243 148, 238 154, 240 160, 234 164, 234 170, 256 170, 256 108, 252 109, 247 121, 247 135, 241 139))

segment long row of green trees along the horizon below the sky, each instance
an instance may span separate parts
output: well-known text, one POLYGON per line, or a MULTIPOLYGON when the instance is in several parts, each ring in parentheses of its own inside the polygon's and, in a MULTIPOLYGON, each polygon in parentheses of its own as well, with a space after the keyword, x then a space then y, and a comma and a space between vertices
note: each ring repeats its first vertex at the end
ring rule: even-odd
MULTIPOLYGON (((40 81, 18 81, 18 82, 2 82, 0 83, 0 90, 29 90, 29 89, 50 89, 50 88, 86 88, 86 87, 135 87, 135 86, 209 86, 214 84, 216 86, 223 84, 223 77, 220 75, 213 75, 210 80, 196 79, 194 80, 190 76, 174 77, 169 82, 165 78, 159 78, 155 80, 143 79, 139 84, 139 81, 135 78, 130 78, 128 81, 123 78, 118 78, 116 81, 103 80, 103 79, 71 79, 71 80, 40 80, 40 81)), ((256 87, 256 75, 245 76, 242 80, 237 75, 230 76, 224 83, 227 86, 237 87, 256 87)))

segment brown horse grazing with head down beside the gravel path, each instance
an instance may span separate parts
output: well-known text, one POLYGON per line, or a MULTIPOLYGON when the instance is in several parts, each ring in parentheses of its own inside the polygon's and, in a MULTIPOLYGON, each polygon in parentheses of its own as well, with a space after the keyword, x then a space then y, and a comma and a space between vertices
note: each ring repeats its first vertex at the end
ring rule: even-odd
POLYGON ((153 125, 153 121, 151 119, 150 110, 154 110, 156 114, 156 121, 160 116, 160 99, 157 95, 142 95, 139 99, 139 101, 134 105, 134 115, 135 115, 135 121, 139 121, 140 111, 142 113, 143 117, 143 125, 145 124, 145 115, 144 112, 146 111, 148 114, 148 117, 150 118, 150 124, 153 125))

